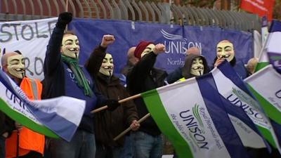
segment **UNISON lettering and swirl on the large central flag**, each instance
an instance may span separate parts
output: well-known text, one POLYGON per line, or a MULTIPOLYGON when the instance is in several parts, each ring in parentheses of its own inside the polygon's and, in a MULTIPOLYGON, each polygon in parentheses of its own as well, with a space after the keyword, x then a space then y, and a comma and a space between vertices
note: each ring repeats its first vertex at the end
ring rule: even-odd
POLYGON ((204 136, 204 124, 200 117, 199 105, 195 104, 195 106, 192 107, 192 112, 190 110, 180 112, 180 117, 188 128, 190 138, 197 147, 209 150, 206 136, 204 136))

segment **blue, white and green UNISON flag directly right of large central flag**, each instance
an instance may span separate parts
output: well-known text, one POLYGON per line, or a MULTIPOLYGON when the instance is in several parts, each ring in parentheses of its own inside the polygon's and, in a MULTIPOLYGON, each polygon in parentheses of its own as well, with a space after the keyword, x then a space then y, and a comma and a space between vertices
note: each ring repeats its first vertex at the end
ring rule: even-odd
MULTIPOLYGON (((270 124, 270 119, 266 116, 259 102, 250 93, 244 81, 238 77, 228 62, 223 62, 219 65, 218 70, 220 71, 212 71, 211 74, 213 74, 216 87, 222 98, 231 103, 223 103, 228 113, 243 121, 257 134, 261 133, 271 145, 280 149, 277 136, 275 135, 272 124, 270 124), (243 114, 246 114, 254 122, 259 131, 254 128, 251 121, 247 121, 247 117, 242 116, 243 114)), ((266 146, 268 145, 266 144, 266 146)))

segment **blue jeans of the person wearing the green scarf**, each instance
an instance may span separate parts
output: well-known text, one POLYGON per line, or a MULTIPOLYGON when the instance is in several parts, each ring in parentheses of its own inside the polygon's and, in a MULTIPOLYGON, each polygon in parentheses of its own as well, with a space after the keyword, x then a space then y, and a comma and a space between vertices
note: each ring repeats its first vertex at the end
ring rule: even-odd
POLYGON ((70 142, 51 138, 48 150, 51 158, 95 158, 95 135, 77 130, 70 142))

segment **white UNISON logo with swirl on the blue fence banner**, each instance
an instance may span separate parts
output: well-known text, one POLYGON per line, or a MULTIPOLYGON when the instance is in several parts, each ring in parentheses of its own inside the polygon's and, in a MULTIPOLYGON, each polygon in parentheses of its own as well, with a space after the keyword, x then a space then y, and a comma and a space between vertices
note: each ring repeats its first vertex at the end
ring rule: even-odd
POLYGON ((202 52, 201 43, 188 41, 188 39, 183 38, 183 36, 178 34, 169 34, 165 32, 164 29, 160 31, 163 34, 163 37, 168 40, 164 40, 164 45, 166 47, 165 53, 182 53, 185 54, 187 48, 197 47, 200 52, 202 52))

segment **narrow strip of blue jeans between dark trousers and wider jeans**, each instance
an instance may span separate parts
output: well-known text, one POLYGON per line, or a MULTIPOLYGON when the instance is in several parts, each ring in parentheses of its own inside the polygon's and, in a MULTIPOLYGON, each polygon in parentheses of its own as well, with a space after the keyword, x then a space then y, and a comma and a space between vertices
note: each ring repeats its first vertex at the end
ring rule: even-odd
POLYGON ((133 158, 133 136, 125 136, 124 147, 120 158, 133 158))

